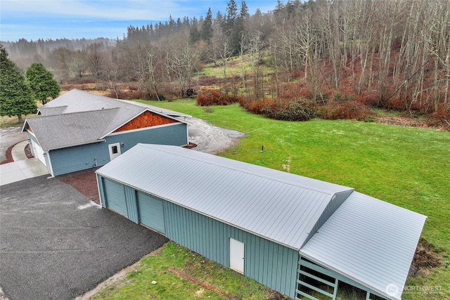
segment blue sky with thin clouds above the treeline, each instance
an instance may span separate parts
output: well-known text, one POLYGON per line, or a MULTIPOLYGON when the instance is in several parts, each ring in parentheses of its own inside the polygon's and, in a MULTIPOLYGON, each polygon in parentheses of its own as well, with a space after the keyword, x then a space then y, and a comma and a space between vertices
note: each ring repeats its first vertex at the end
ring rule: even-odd
MULTIPOLYGON (((240 8, 241 0, 235 0, 240 8)), ((165 22, 226 12, 228 0, 0 0, 0 41, 24 38, 81 39, 108 37, 122 39, 129 25, 165 22)), ((276 6, 276 0, 246 0, 250 14, 276 6)))

